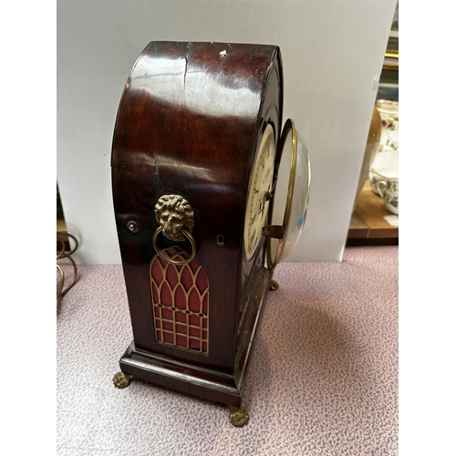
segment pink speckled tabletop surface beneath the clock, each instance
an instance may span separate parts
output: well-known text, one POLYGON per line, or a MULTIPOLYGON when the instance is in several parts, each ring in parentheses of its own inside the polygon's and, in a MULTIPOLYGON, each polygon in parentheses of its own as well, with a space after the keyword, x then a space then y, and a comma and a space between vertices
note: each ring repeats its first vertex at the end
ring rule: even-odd
POLYGON ((228 408, 112 377, 132 340, 120 265, 79 266, 57 304, 58 455, 398 454, 398 247, 342 263, 284 263, 247 381, 250 421, 228 408))

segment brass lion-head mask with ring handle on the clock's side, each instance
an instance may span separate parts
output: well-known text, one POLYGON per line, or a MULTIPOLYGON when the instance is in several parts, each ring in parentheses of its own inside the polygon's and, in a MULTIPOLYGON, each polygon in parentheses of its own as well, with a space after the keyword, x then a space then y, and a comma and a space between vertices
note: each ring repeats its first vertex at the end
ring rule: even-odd
POLYGON ((190 203, 180 195, 163 195, 155 204, 155 218, 159 227, 153 233, 152 244, 157 254, 171 264, 190 263, 196 254, 196 243, 192 236, 195 222, 190 203), (172 260, 157 244, 160 233, 171 241, 182 242, 188 239, 192 244, 192 254, 182 261, 172 260))

